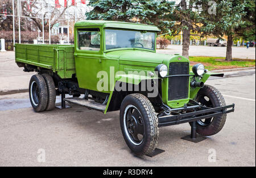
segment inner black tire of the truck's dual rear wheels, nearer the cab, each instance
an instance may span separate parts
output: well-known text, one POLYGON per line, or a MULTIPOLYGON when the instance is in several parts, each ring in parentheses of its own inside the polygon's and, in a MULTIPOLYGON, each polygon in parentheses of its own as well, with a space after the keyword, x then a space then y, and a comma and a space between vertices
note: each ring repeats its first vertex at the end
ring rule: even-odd
POLYGON ((46 81, 47 85, 47 92, 48 92, 48 102, 46 106, 46 111, 53 110, 55 108, 55 101, 56 101, 56 89, 53 78, 47 74, 42 74, 44 80, 46 81))

